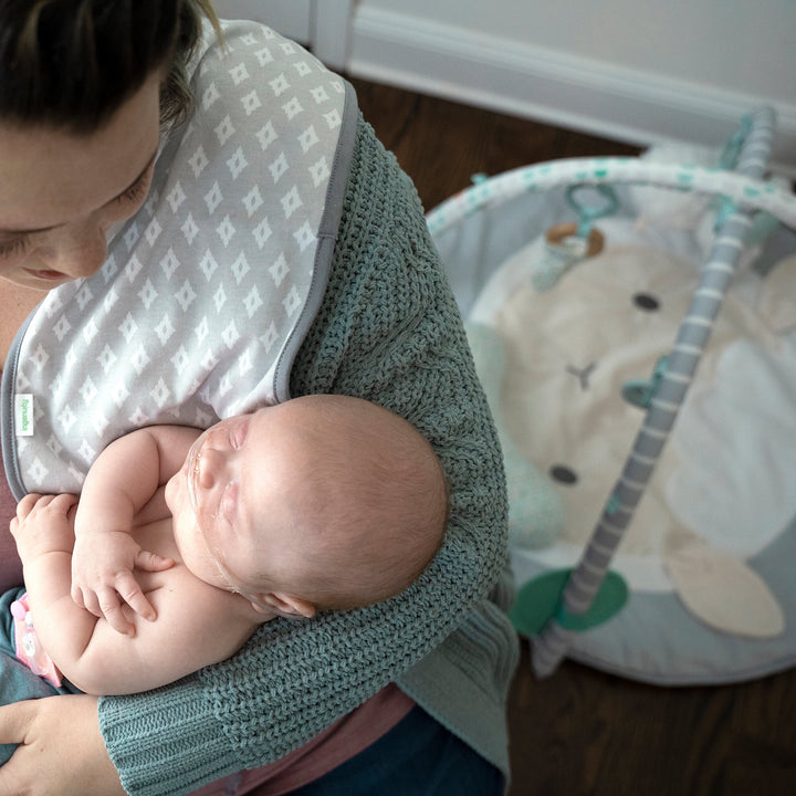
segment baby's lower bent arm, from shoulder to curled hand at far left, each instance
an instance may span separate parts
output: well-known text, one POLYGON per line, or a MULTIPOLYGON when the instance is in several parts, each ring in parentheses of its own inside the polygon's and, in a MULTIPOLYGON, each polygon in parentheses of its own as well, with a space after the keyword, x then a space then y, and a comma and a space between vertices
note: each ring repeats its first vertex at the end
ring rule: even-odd
POLYGON ((133 636, 77 606, 70 595, 74 495, 27 495, 11 532, 24 567, 33 626, 57 668, 94 694, 147 691, 233 654, 264 620, 241 596, 196 578, 185 566, 158 573, 148 593, 158 620, 128 607, 133 636))

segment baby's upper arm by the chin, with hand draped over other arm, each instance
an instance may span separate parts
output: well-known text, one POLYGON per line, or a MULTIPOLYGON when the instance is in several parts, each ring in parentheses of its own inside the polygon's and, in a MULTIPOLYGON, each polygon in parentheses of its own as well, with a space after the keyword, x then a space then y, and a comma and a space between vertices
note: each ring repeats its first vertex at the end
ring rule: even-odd
POLYGON ((88 471, 75 516, 72 599, 119 632, 134 632, 123 603, 146 619, 157 612, 133 574, 172 566, 130 535, 133 519, 185 462, 200 431, 150 426, 112 442, 88 471))

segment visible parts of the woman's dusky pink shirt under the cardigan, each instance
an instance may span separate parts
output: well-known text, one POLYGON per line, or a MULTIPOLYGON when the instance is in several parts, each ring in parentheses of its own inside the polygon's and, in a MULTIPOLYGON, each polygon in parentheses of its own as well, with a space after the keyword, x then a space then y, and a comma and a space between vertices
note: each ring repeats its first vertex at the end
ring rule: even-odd
MULTIPOLYGON (((0 591, 22 585, 22 563, 9 523, 17 503, 0 459, 0 591)), ((397 685, 381 689, 306 745, 261 768, 205 786, 195 796, 280 796, 317 779, 389 732, 415 705, 397 685)))

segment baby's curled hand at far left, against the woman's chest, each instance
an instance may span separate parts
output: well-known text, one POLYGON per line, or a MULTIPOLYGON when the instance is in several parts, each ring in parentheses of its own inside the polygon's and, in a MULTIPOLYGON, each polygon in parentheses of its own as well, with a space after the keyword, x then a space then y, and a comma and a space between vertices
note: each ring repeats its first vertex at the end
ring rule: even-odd
POLYGON ((71 553, 74 544, 74 509, 71 494, 31 493, 17 504, 10 530, 22 563, 46 553, 71 553))

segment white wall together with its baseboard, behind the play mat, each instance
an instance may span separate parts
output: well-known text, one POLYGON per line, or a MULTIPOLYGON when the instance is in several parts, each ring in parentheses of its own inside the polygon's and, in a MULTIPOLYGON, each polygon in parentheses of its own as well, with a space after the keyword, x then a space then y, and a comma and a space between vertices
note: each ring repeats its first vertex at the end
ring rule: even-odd
POLYGON ((796 174, 794 0, 359 0, 349 53, 358 76, 640 144, 720 145, 772 104, 796 174))

